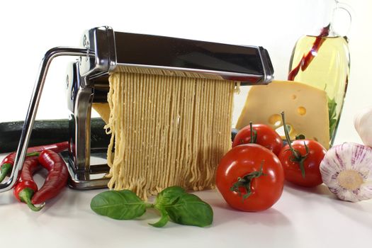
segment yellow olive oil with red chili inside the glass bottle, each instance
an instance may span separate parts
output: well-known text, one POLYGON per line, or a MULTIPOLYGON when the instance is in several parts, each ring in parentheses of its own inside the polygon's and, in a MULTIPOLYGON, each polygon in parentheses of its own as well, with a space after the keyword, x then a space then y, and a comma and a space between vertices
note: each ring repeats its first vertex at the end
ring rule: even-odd
POLYGON ((303 36, 293 49, 289 80, 325 90, 329 108, 329 138, 333 144, 342 113, 350 70, 346 37, 303 36))

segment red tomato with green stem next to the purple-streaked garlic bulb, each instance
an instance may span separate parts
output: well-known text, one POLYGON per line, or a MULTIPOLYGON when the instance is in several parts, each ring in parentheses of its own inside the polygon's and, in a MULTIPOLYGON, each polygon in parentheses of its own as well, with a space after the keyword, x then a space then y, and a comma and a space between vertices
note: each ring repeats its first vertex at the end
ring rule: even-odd
POLYGON ((295 157, 291 150, 289 150, 289 146, 286 145, 278 155, 286 180, 305 187, 315 187, 322 184, 323 181, 319 166, 327 152, 325 147, 315 140, 295 140, 291 144, 293 149, 298 151, 301 156, 305 156, 307 153, 305 144, 308 146, 308 154, 303 160, 305 177, 301 173, 300 163, 294 161, 295 157))

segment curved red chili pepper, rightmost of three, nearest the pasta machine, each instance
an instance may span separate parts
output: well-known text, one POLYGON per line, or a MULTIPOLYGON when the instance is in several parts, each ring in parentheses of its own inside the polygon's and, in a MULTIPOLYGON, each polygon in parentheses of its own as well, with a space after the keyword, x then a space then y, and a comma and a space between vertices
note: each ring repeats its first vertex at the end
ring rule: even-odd
POLYGON ((60 193, 66 186, 69 177, 69 171, 62 157, 52 150, 40 152, 38 161, 42 167, 49 171, 44 185, 38 192, 35 192, 31 202, 33 204, 45 203, 60 193))

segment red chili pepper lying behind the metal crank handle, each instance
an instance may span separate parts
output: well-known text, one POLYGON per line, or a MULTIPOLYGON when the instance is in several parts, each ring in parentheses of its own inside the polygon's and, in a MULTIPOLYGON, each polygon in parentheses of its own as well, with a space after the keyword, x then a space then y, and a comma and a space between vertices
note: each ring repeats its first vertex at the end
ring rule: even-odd
MULTIPOLYGON (((38 147, 30 147, 27 150, 27 153, 34 153, 34 152, 42 152, 43 150, 52 150, 55 152, 62 152, 64 150, 67 150, 69 147, 69 142, 60 142, 56 144, 51 145, 40 145, 38 147)), ((9 174, 11 169, 13 168, 14 159, 16 157, 16 152, 12 152, 8 156, 6 156, 3 161, 0 164, 0 182, 3 181, 6 177, 6 175, 9 174)))

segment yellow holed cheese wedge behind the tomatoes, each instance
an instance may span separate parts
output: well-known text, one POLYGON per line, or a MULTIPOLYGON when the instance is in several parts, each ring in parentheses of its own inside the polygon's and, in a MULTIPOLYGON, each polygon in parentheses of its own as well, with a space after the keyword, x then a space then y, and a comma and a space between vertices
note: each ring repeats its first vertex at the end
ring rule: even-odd
MULTIPOLYGON (((249 90, 237 129, 249 122, 270 125, 282 130, 281 112, 291 128, 290 136, 305 135, 329 148, 328 101, 325 91, 295 81, 273 81, 264 86, 252 86, 249 90)), ((279 132, 282 134, 283 132, 279 132)))

